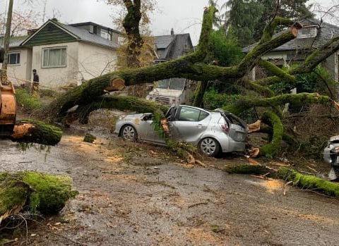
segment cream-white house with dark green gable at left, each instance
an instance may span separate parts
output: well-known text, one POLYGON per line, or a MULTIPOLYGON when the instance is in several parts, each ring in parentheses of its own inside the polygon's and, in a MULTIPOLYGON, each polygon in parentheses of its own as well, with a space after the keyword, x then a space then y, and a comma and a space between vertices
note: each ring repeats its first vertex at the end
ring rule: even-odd
POLYGON ((95 23, 48 20, 31 35, 11 38, 8 78, 18 85, 30 81, 36 69, 42 87, 79 85, 115 70, 120 37, 120 32, 95 23))

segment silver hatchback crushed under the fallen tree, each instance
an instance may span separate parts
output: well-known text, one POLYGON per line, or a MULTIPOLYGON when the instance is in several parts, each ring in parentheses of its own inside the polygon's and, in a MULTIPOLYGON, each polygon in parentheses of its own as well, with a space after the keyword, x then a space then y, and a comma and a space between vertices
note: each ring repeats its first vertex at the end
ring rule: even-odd
MULTIPOLYGON (((194 106, 172 106, 166 113, 174 140, 189 142, 208 156, 219 152, 244 152, 248 132, 242 119, 226 111, 206 111, 194 106)), ((165 144, 153 128, 152 113, 121 116, 114 133, 124 140, 165 144)))

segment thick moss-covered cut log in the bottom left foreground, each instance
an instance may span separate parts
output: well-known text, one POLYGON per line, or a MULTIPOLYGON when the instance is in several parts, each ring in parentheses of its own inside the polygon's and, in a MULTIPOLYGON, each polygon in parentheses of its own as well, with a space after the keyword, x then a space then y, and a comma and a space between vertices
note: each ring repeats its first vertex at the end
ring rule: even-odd
POLYGON ((0 173, 0 224, 8 216, 27 210, 31 214, 57 214, 68 199, 78 194, 71 190, 71 178, 32 171, 0 173))

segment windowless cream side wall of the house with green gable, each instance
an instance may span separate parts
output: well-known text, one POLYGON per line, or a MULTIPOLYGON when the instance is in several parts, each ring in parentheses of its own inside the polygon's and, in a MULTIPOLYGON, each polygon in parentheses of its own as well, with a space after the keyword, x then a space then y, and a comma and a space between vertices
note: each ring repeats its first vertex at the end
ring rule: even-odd
POLYGON ((78 81, 90 80, 116 69, 117 52, 105 47, 79 43, 78 49, 78 81))

